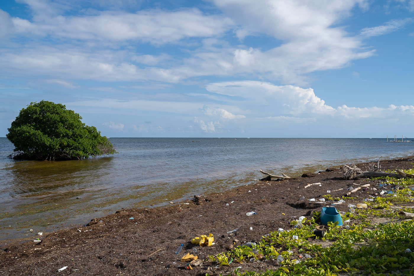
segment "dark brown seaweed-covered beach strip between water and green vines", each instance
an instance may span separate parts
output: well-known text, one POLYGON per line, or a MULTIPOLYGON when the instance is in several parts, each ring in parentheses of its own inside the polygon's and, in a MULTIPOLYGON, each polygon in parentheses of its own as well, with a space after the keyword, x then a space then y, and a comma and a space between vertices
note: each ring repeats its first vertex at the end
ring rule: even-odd
MULTIPOLYGON (((382 167, 412 169, 413 157, 381 161, 382 167)), ((366 163, 359 164, 365 168, 366 163)), ((282 173, 282 172, 280 172, 282 173)), ((221 194, 210 194, 196 205, 191 199, 171 203, 166 207, 121 209, 111 215, 94 218, 87 226, 29 236, 22 241, 4 245, 0 250, 1 275, 211 275, 231 271, 240 264, 215 268, 205 261, 208 255, 231 250, 245 242, 255 242, 278 228, 291 229, 290 221, 300 216, 310 217, 320 211, 320 199, 331 192, 333 197, 346 194, 352 184, 370 184, 378 188, 379 179, 344 180, 339 165, 330 172, 312 177, 298 177, 284 181, 256 181, 221 194), (306 184, 320 182, 304 188, 306 184), (304 200, 300 198, 304 196, 304 200), (208 201, 205 201, 207 199, 208 201), (226 205, 228 204, 228 205, 226 205), (253 211, 256 214, 247 216, 253 211), (238 229, 232 234, 227 232, 238 229), (251 230, 252 229, 252 230, 251 230), (197 235, 214 235, 214 245, 194 246, 190 239, 197 235), (40 243, 34 240, 39 238, 40 243), (180 254, 174 254, 183 244, 180 254), (196 247, 203 261, 192 270, 180 270, 181 257, 193 253, 196 247)), ((359 190, 355 200, 337 205, 338 211, 348 211, 348 203, 361 203, 367 194, 378 190, 359 190)), ((242 269, 265 270, 274 262, 241 264, 242 269)))

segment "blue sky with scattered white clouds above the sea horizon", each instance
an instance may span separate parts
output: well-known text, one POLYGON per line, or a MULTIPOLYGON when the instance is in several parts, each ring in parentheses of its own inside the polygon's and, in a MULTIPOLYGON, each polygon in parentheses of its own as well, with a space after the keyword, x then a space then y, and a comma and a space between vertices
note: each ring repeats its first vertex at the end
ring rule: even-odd
POLYGON ((414 0, 4 0, 0 136, 30 102, 108 137, 414 138, 414 0))

